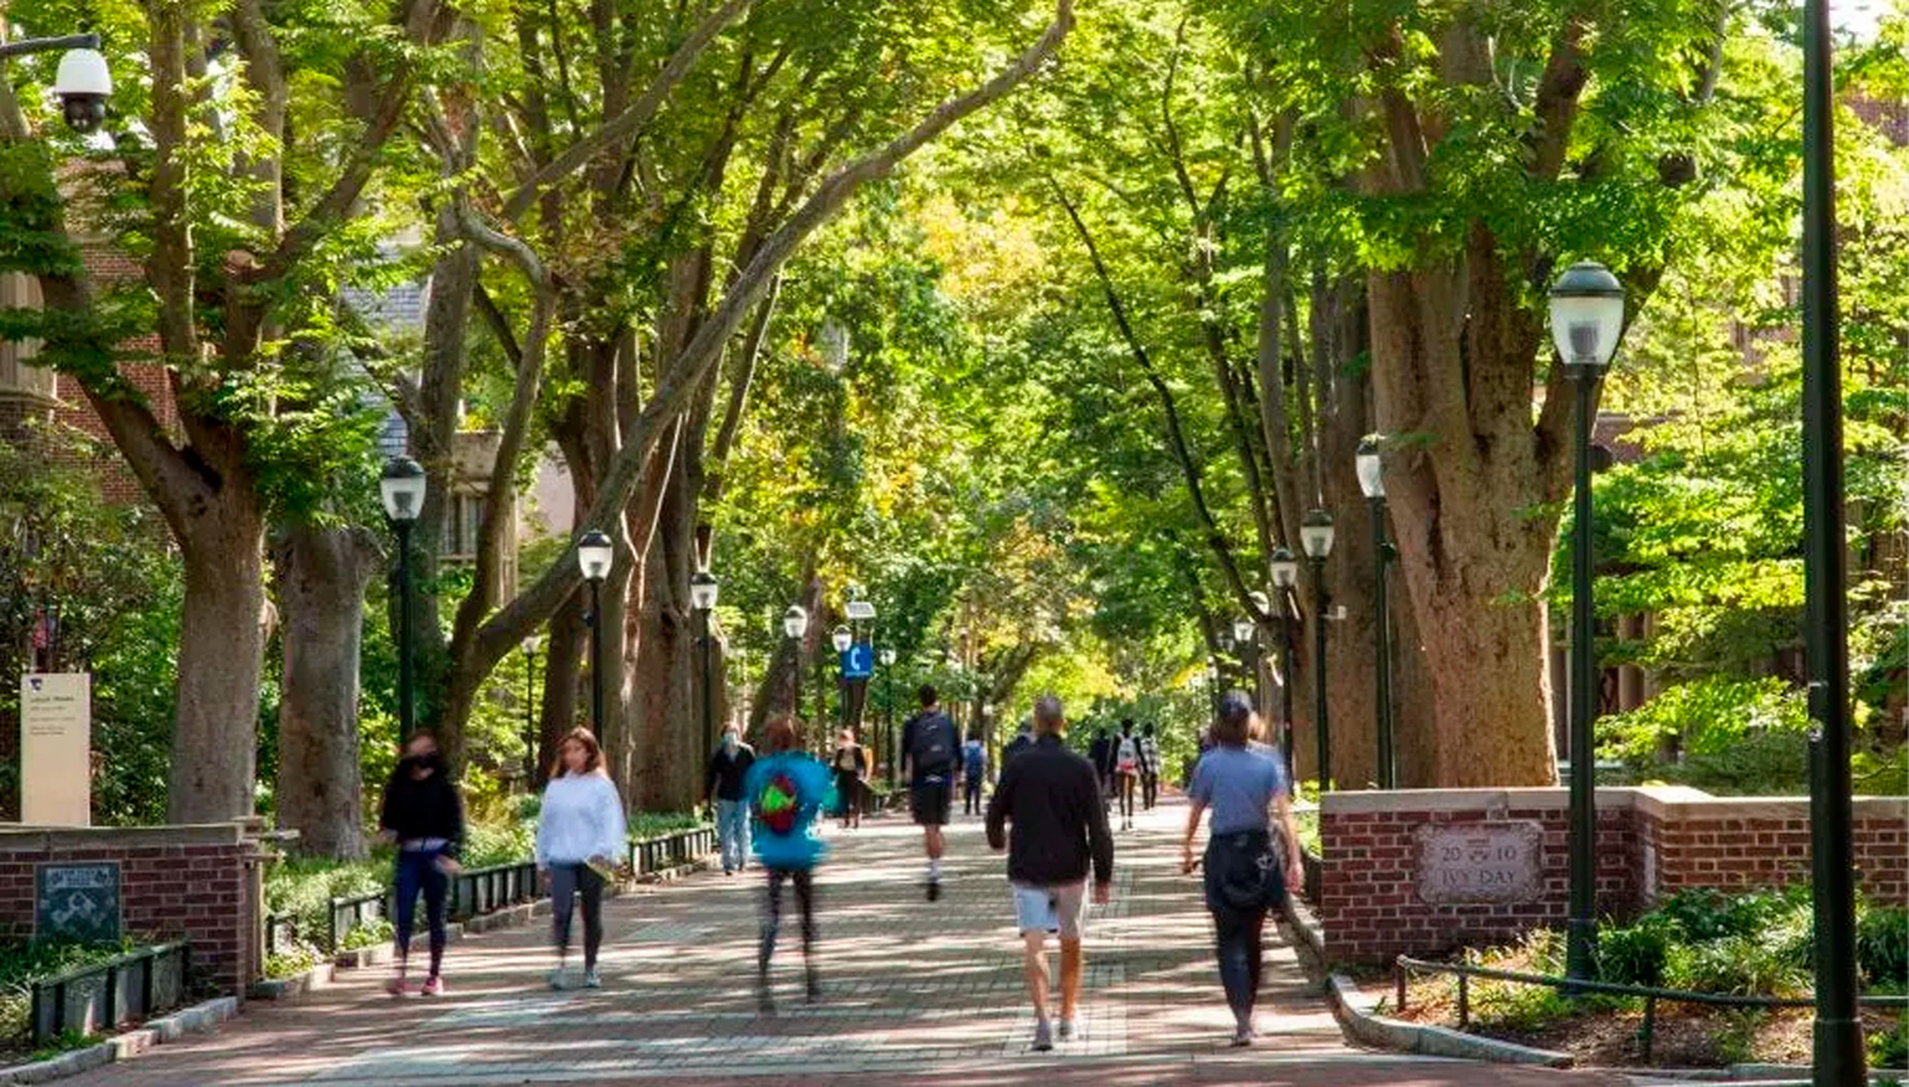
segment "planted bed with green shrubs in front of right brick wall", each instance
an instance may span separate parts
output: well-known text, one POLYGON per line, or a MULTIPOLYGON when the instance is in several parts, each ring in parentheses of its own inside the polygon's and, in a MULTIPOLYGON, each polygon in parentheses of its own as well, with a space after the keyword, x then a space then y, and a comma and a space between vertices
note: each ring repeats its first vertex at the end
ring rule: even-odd
MULTIPOLYGON (((1808 997, 1812 990, 1812 913, 1808 889, 1724 894, 1682 891, 1630 925, 1598 931, 1598 978, 1668 990, 1808 997)), ((1479 967, 1563 974, 1565 940, 1531 933, 1512 948, 1468 952, 1479 967)), ((1857 965, 1863 995, 1909 992, 1909 912, 1865 906, 1857 913, 1857 965)), ((1470 978, 1466 1028, 1474 1034, 1565 1051, 1583 1064, 1634 1066, 1646 1053, 1642 997, 1567 997, 1550 986, 1470 978)), ((1458 1024, 1457 978, 1413 974, 1403 1009, 1411 1022, 1458 1024)), ((1770 1062, 1808 1064, 1812 1011, 1722 1009, 1659 1001, 1649 1028, 1651 1064, 1722 1068, 1770 1062)), ((1863 1009, 1869 1060, 1909 1066, 1909 1016, 1901 1007, 1863 1009)))

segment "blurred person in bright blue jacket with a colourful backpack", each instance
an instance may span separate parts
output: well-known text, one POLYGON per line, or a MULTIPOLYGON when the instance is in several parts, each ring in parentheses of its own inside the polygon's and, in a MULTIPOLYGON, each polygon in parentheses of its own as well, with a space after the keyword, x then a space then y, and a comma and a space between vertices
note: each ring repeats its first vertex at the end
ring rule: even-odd
POLYGON ((756 995, 762 1011, 775 1011, 769 995, 769 959, 783 925, 783 883, 796 885, 802 912, 802 961, 808 997, 821 997, 815 976, 815 866, 829 847, 815 835, 815 822, 829 803, 829 767, 802 749, 798 723, 783 717, 764 732, 766 757, 758 757, 743 776, 754 824, 756 860, 769 873, 767 906, 762 919, 762 948, 756 955, 756 995))

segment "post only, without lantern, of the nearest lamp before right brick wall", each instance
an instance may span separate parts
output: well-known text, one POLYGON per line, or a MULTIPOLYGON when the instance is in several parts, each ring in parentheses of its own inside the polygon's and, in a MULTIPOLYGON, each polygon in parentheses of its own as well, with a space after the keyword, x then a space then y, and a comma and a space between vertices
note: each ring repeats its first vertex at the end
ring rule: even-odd
POLYGON ((1565 976, 1594 980, 1598 950, 1598 749, 1592 738, 1598 696, 1596 608, 1592 601, 1590 425, 1598 368, 1573 364, 1577 378, 1577 484, 1571 524, 1571 917, 1565 976))

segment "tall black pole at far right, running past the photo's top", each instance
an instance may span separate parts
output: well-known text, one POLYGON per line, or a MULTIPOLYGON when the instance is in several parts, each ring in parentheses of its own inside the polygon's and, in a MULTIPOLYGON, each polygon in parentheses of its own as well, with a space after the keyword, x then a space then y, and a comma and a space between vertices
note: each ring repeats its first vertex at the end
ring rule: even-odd
POLYGON ((1848 553, 1842 511, 1842 368, 1836 343, 1836 166, 1829 0, 1802 19, 1802 524, 1804 667, 1810 677, 1810 837, 1815 885, 1817 1087, 1867 1079, 1856 1007, 1850 805, 1848 553))

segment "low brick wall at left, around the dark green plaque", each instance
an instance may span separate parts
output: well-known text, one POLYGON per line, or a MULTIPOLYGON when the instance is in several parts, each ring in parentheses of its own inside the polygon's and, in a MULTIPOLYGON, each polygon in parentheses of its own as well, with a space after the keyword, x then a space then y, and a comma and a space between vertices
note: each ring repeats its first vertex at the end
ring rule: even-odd
POLYGON ((244 824, 0 828, 0 936, 32 936, 34 866, 120 862, 120 931, 193 942, 193 969, 227 994, 260 973, 258 839, 244 824))

